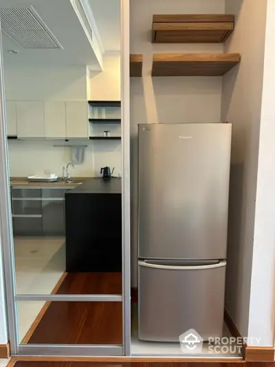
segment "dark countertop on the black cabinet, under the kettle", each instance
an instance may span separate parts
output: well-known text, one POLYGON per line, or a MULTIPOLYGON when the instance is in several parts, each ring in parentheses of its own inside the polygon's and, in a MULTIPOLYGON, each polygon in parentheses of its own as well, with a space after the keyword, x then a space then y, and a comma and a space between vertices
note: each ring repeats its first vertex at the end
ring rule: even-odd
POLYGON ((75 189, 68 191, 66 196, 75 193, 121 193, 121 179, 111 178, 110 180, 103 180, 100 177, 91 178, 75 189))

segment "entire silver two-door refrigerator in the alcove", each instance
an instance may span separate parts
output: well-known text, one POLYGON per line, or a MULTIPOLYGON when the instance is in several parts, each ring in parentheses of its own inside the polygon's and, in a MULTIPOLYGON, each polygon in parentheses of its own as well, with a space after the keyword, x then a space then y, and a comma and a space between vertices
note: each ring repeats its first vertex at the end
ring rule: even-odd
POLYGON ((232 125, 139 125, 139 338, 221 337, 232 125))

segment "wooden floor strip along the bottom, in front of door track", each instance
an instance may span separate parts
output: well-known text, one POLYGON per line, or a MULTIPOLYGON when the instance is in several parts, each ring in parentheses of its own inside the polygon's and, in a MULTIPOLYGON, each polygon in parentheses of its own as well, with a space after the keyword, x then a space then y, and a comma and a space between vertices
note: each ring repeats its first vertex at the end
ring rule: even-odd
POLYGON ((214 363, 214 362, 188 362, 188 363, 136 363, 125 362, 120 364, 96 362, 62 362, 62 361, 17 361, 15 367, 274 367, 274 363, 246 362, 246 363, 214 363))

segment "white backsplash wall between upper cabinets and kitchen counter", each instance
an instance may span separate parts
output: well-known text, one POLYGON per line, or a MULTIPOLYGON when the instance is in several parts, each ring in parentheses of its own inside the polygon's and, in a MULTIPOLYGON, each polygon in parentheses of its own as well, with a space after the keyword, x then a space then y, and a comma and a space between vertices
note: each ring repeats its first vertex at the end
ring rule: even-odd
MULTIPOLYGON (((85 160, 80 165, 70 167, 72 177, 100 176, 100 167, 115 167, 114 175, 121 173, 120 140, 110 140, 102 144, 101 140, 69 140, 69 145, 87 145, 85 160)), ((64 140, 9 140, 9 162, 11 177, 28 177, 50 171, 62 176, 62 167, 72 162, 71 147, 64 140)))

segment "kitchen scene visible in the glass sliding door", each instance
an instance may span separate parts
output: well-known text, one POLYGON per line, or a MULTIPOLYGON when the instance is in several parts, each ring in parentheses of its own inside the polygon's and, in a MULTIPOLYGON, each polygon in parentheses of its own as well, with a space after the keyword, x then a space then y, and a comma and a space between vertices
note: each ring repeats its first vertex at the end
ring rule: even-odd
POLYGON ((120 1, 112 1, 111 19, 98 24, 105 52, 116 48, 111 63, 94 49, 83 21, 89 11, 109 17, 104 6, 16 3, 0 0, 1 141, 8 158, 1 212, 10 227, 12 353, 122 355, 120 95, 104 104, 110 88, 120 90, 120 1), (53 9, 63 21, 56 22, 53 9), (32 30, 28 39, 12 32, 9 14, 17 26, 33 20, 41 39, 32 30), (90 70, 104 73, 104 65, 110 70, 102 82, 90 70), (98 83, 106 96, 95 95, 98 83))

